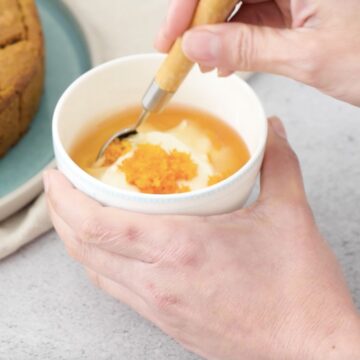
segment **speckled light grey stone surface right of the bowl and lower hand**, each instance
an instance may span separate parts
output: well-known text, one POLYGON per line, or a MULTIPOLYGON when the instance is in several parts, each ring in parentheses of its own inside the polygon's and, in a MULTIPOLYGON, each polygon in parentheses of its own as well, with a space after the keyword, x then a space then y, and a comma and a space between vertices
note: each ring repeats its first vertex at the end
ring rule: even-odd
POLYGON ((250 83, 267 114, 285 122, 318 226, 360 309, 360 108, 280 77, 250 83))

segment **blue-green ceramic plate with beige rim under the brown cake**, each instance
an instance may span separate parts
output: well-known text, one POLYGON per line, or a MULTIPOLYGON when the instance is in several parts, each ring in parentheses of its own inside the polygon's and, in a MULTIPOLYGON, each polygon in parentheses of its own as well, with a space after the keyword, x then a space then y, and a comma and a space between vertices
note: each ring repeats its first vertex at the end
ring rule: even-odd
POLYGON ((64 90, 90 69, 84 35, 60 0, 36 0, 46 46, 46 84, 38 114, 24 138, 0 160, 0 220, 41 190, 39 174, 53 160, 51 120, 64 90))

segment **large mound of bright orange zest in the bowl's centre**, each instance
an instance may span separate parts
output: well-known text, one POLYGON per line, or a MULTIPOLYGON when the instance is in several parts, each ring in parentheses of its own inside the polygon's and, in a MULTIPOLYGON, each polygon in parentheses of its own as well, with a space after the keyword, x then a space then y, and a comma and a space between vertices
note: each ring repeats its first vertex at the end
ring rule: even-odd
POLYGON ((198 171, 190 154, 176 150, 167 153, 153 144, 140 144, 119 168, 129 184, 147 194, 188 192, 190 188, 179 182, 195 178, 198 171))

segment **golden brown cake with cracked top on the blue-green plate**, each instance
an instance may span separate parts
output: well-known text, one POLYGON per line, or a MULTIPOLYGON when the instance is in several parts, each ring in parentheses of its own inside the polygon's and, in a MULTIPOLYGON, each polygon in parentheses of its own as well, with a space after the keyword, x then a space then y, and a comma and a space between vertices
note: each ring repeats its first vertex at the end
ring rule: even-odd
POLYGON ((0 0, 0 157, 28 129, 43 79, 44 45, 34 0, 0 0))

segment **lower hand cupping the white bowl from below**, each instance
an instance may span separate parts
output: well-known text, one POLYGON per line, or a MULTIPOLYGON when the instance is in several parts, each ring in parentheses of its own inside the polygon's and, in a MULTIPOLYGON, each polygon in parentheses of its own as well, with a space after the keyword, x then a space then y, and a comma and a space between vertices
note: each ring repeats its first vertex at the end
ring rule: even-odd
POLYGON ((358 314, 284 129, 271 124, 250 208, 134 214, 102 207, 50 171, 53 223, 95 284, 208 359, 359 359, 358 314))

